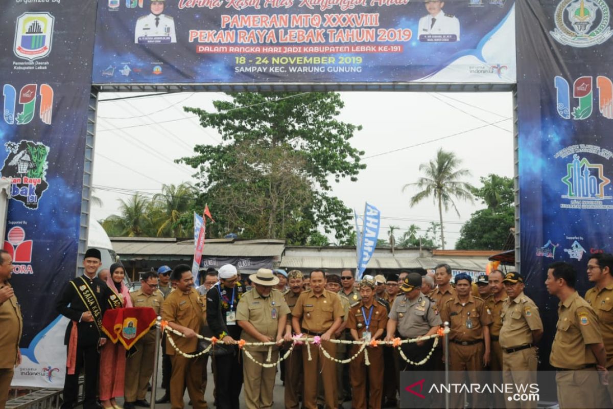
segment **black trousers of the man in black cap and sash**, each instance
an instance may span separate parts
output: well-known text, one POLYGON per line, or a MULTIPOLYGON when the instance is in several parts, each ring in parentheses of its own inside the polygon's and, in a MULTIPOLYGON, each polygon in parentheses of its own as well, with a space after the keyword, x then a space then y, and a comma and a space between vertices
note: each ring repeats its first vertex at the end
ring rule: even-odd
POLYGON ((74 375, 68 375, 66 369, 66 380, 64 380, 64 403, 61 409, 72 409, 78 403, 78 377, 81 370, 85 367, 85 400, 83 409, 96 409, 96 392, 98 390, 98 374, 100 373, 100 353, 97 345, 78 345, 77 343, 77 362, 74 375))

